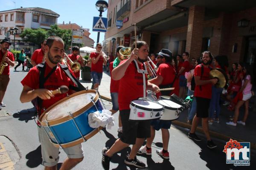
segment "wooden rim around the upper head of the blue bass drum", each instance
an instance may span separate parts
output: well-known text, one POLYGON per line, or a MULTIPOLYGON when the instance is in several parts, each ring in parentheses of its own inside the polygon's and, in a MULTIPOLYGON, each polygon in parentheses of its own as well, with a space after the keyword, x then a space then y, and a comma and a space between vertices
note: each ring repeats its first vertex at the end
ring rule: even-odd
MULTIPOLYGON (((67 97, 64 97, 63 99, 59 100, 58 102, 54 103, 53 105, 51 105, 49 108, 47 108, 47 110, 44 111, 44 113, 42 113, 42 115, 39 117, 38 121, 41 123, 41 125, 44 125, 44 126, 47 126, 47 124, 45 122, 42 122, 42 118, 45 116, 45 119, 46 119, 46 116, 47 116, 47 112, 52 109, 53 107, 55 107, 56 105, 60 104, 61 102, 69 99, 69 98, 72 98, 74 96, 77 96, 79 94, 84 94, 84 93, 90 93, 90 92, 94 92, 96 95, 95 95, 95 98, 94 98, 94 102, 97 102, 97 100, 99 99, 99 95, 98 93, 95 91, 95 90, 84 90, 84 91, 79 91, 79 92, 76 92, 74 94, 71 94, 70 96, 67 96, 67 97)), ((85 105, 83 108, 79 109, 78 111, 74 112, 73 113, 73 117, 75 118, 76 116, 79 116, 81 113, 84 113, 84 111, 86 111, 87 109, 89 109, 91 106, 93 106, 93 102, 89 102, 87 105, 85 105)), ((64 123, 64 122, 67 122, 69 121, 70 119, 72 119, 71 116, 65 116, 65 117, 62 117, 61 119, 55 119, 55 120, 51 120, 51 121, 48 121, 48 124, 49 126, 53 126, 53 125, 56 125, 56 124, 61 124, 61 123, 64 123)))

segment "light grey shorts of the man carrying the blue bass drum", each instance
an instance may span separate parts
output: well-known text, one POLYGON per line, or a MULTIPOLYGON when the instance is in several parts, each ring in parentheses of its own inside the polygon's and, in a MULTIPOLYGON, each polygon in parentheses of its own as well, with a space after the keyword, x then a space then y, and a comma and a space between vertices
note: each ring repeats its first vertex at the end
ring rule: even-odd
MULTIPOLYGON (((59 148, 55 147, 51 142, 44 128, 38 127, 38 137, 41 143, 41 153, 43 159, 43 165, 47 167, 55 166, 59 159, 59 148)), ((84 157, 84 151, 82 144, 77 144, 73 147, 63 148, 68 158, 78 159, 84 157)))

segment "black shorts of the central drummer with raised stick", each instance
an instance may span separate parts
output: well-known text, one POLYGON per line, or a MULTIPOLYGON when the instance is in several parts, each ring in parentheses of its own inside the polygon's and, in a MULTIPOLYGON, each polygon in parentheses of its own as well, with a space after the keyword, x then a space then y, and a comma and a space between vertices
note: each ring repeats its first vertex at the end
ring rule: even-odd
POLYGON ((130 109, 119 111, 122 121, 121 141, 127 144, 135 144, 136 138, 150 137, 150 120, 129 121, 130 109))

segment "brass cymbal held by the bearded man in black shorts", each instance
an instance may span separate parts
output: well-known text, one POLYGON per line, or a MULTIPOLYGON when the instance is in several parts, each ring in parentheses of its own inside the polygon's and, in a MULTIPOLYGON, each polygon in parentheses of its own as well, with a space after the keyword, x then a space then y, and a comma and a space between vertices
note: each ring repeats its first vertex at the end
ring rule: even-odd
POLYGON ((224 88, 227 84, 227 74, 221 68, 213 68, 210 71, 210 79, 218 79, 218 82, 215 84, 216 88, 224 88))

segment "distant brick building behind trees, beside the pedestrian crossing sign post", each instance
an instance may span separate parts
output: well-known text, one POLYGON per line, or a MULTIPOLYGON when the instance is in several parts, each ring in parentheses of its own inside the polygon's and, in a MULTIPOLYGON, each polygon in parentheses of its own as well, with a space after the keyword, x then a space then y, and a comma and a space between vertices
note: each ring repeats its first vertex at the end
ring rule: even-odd
POLYGON ((90 36, 90 32, 88 28, 82 28, 79 25, 77 25, 76 23, 68 23, 65 24, 63 21, 63 24, 58 24, 58 27, 61 29, 83 29, 84 30, 84 34, 83 34, 83 39, 82 42, 84 44, 84 46, 88 46, 91 47, 91 45, 94 44, 94 40, 91 39, 90 36))

